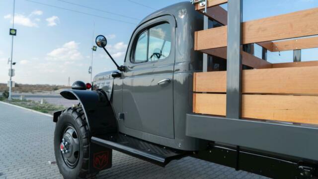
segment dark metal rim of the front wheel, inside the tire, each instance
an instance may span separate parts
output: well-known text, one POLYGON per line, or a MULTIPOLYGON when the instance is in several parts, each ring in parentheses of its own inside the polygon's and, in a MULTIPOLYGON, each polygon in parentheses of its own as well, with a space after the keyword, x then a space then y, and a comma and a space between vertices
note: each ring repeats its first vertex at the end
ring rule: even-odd
POLYGON ((73 126, 67 126, 61 139, 60 150, 65 164, 74 168, 79 161, 79 136, 73 126))

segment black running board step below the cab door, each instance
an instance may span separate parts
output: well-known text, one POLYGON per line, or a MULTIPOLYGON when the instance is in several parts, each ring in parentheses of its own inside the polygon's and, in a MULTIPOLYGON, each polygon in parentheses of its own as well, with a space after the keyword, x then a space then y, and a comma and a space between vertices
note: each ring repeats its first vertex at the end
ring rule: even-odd
POLYGON ((102 137, 91 137, 91 142, 146 160, 161 167, 164 167, 171 160, 180 159, 187 155, 184 152, 178 152, 120 133, 102 137))

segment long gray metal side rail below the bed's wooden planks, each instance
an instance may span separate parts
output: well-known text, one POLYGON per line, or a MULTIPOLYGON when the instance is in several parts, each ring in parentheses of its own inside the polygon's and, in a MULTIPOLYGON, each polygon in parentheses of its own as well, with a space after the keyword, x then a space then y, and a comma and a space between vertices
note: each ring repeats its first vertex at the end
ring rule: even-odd
POLYGON ((186 126, 188 136, 318 160, 315 127, 198 114, 187 114, 186 126))

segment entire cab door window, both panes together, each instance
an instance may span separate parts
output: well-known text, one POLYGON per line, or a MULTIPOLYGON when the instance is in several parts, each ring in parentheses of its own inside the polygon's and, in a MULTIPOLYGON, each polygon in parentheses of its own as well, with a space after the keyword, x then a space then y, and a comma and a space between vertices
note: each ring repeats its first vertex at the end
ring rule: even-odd
POLYGON ((133 63, 152 62, 165 59, 171 50, 170 24, 162 23, 151 27, 138 37, 133 63))

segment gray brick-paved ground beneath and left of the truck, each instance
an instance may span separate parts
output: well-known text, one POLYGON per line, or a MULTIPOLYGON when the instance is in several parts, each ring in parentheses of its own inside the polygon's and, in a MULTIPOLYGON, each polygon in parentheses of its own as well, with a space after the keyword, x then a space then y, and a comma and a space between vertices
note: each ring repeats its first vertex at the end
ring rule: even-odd
MULTIPOLYGON (((60 179, 51 118, 0 103, 0 179, 60 179)), ((261 179, 246 172, 190 157, 165 168, 113 152, 113 167, 98 179, 261 179)), ((265 178, 262 178, 265 179, 265 178)))

